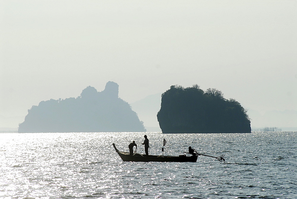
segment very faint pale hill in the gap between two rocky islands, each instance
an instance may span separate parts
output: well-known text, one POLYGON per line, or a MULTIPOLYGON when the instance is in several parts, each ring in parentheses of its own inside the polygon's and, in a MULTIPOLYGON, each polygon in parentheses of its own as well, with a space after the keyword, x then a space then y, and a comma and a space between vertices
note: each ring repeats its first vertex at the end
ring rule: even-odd
POLYGON ((161 95, 162 93, 149 95, 139 101, 130 104, 132 110, 137 112, 139 119, 144 122, 143 124, 146 130, 149 132, 161 132, 159 122, 157 120, 157 113, 161 108, 161 95))

